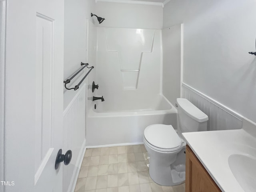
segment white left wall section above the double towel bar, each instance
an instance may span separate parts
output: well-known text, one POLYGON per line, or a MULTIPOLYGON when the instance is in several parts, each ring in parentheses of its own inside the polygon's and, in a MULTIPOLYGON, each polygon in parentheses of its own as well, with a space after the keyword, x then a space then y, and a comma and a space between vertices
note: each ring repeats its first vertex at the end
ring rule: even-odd
POLYGON ((64 10, 64 78, 86 62, 87 20, 92 20, 93 0, 65 0, 64 10))

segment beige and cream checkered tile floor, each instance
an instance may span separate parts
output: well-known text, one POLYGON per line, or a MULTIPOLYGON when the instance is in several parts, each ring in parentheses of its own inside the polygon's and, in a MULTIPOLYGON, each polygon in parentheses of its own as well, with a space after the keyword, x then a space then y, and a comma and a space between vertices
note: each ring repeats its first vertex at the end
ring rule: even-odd
POLYGON ((185 192, 149 176, 144 145, 86 149, 75 192, 185 192))

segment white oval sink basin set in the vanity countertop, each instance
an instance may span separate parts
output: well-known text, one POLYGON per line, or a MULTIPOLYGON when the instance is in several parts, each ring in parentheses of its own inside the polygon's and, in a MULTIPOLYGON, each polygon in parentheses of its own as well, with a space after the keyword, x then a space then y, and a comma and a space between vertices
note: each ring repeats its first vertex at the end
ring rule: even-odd
POLYGON ((245 192, 255 192, 256 157, 247 154, 232 154, 228 158, 228 164, 243 190, 245 192))

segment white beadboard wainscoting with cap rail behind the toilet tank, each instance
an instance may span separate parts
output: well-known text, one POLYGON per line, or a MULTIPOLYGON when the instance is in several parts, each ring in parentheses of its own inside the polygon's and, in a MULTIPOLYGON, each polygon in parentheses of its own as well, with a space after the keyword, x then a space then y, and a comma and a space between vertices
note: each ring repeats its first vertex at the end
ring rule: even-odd
POLYGON ((208 96, 182 83, 182 98, 186 98, 208 115, 207 130, 230 130, 242 128, 242 116, 208 96))

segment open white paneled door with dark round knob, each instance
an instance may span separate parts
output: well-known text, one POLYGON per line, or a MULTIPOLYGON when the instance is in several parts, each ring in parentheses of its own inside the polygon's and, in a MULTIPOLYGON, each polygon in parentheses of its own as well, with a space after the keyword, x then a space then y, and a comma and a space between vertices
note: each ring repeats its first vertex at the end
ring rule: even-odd
POLYGON ((5 192, 62 192, 64 0, 6 2, 5 192))

